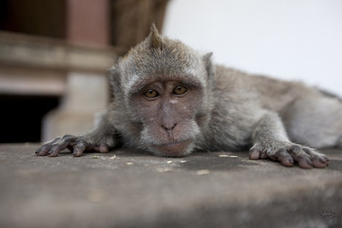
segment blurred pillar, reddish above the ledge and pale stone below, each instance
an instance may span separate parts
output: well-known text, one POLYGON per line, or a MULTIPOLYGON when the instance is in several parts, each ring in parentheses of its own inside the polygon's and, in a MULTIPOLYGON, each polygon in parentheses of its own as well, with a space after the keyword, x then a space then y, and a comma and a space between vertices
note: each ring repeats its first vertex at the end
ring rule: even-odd
MULTIPOLYGON (((109 31, 108 0, 66 0, 68 43, 105 47, 109 31)), ((42 140, 86 133, 93 128, 95 114, 105 110, 108 97, 105 73, 69 71, 61 105, 43 120, 42 140)))

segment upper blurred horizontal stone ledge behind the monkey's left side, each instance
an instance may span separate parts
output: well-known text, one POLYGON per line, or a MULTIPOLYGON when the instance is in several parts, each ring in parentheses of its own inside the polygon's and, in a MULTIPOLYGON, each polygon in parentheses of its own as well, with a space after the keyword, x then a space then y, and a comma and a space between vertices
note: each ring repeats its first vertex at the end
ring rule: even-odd
POLYGON ((0 31, 0 63, 59 71, 105 73, 126 50, 78 46, 56 38, 0 31))

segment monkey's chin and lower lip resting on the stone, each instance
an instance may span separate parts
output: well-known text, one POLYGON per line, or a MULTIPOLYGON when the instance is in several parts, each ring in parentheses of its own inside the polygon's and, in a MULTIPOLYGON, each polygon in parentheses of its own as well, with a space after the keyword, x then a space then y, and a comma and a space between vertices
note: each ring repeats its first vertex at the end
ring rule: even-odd
POLYGON ((183 157, 193 150, 192 140, 172 142, 165 145, 152 145, 151 152, 160 157, 183 157))

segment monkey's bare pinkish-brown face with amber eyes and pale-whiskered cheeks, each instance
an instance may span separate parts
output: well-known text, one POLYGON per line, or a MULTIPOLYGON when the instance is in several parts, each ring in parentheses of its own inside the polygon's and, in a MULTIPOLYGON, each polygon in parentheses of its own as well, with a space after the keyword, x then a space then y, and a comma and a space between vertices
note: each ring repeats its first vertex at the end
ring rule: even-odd
POLYGON ((155 155, 189 154, 199 134, 202 88, 185 76, 172 81, 149 81, 130 100, 133 119, 140 121, 140 145, 155 155))

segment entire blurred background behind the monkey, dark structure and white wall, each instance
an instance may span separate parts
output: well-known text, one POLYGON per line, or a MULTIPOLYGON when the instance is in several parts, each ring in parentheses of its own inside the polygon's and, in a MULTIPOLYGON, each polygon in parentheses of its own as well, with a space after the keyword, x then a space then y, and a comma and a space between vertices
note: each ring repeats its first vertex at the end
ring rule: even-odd
POLYGON ((0 142, 90 130, 105 70, 152 22, 216 63, 342 96, 342 1, 2 0, 0 142))

